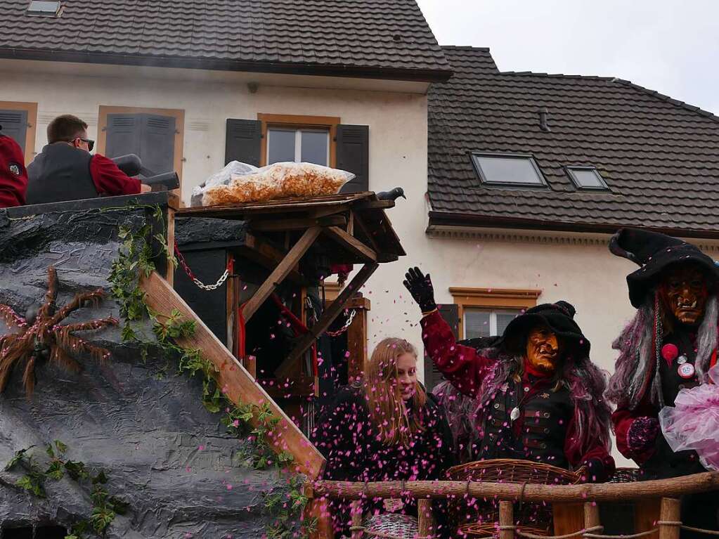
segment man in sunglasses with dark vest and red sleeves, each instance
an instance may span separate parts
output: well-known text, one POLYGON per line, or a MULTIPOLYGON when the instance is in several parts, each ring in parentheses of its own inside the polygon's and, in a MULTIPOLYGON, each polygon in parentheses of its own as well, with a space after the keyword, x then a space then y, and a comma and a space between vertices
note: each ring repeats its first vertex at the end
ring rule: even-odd
POLYGON ((47 126, 48 144, 27 167, 27 203, 75 201, 98 196, 134 195, 150 190, 104 155, 91 155, 95 141, 88 124, 63 114, 47 126))

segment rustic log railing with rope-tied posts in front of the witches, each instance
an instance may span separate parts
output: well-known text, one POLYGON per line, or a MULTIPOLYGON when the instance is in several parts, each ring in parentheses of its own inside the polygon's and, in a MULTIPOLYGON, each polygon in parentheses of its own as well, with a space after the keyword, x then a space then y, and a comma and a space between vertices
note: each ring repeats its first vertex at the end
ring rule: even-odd
MULTIPOLYGON (((383 499, 413 497, 418 500, 418 527, 420 537, 431 535, 433 515, 431 499, 447 497, 463 497, 465 494, 475 499, 495 499, 499 502, 499 538, 513 539, 516 536, 531 538, 531 534, 522 533, 515 527, 513 502, 547 502, 558 505, 579 505, 580 518, 574 519, 576 529, 564 528, 563 537, 582 537, 590 539, 605 538, 596 502, 626 502, 628 500, 651 501, 661 500, 659 518, 652 532, 657 530, 659 539, 679 539, 680 522, 679 497, 684 494, 710 492, 719 490, 719 472, 706 472, 692 476, 683 476, 657 481, 632 483, 601 483, 577 485, 544 485, 544 484, 510 484, 458 481, 412 481, 412 482, 344 482, 318 481, 308 487, 311 498, 308 515, 316 517, 316 531, 313 539, 332 539, 334 534, 329 515, 328 499, 344 498, 354 500, 352 510, 353 528, 361 528, 362 499, 383 499)), ((556 515, 556 511, 555 511, 556 515)), ((555 516, 556 518, 556 516, 555 516)), ((556 528, 555 528, 556 532, 556 528)), ((649 535, 644 533, 636 534, 649 535)), ((718 534, 719 535, 719 534, 718 534)), ((370 537, 363 535, 361 530, 353 532, 352 539, 370 537)), ((631 537, 631 536, 623 536, 631 537)))

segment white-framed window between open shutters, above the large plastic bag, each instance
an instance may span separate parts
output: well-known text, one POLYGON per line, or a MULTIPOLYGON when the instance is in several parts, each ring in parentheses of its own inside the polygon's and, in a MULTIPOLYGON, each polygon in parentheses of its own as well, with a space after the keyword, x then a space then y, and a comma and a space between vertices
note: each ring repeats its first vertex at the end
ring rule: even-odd
POLYGON ((267 128, 267 165, 290 161, 329 166, 329 149, 329 129, 267 128))

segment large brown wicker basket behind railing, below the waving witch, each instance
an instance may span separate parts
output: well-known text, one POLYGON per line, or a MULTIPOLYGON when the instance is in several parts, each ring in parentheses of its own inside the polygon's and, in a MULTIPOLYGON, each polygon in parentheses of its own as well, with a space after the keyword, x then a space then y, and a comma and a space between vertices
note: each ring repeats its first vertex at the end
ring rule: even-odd
MULTIPOLYGON (((518 459, 490 459, 454 466, 447 470, 447 476, 453 481, 473 481, 516 484, 577 484, 581 481, 584 469, 568 471, 550 464, 523 461, 518 459)), ((515 507, 515 520, 527 530, 535 528, 551 529, 551 506, 540 503, 522 503, 515 507)), ((475 500, 470 503, 466 496, 449 498, 449 517, 460 530, 468 526, 494 529, 498 520, 498 505, 495 500, 475 500)), ((484 528, 482 528, 484 532, 484 528)), ((470 535, 487 537, 488 535, 470 535)), ((539 535, 539 534, 538 534, 539 535)))

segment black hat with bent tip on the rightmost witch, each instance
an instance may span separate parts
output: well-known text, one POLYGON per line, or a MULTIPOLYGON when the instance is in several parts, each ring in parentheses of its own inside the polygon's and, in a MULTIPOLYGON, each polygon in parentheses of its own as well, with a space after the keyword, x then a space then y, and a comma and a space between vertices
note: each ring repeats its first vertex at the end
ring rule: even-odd
POLYGON ((694 262, 702 267, 707 277, 719 282, 719 267, 699 247, 686 241, 640 229, 619 229, 609 241, 609 250, 641 266, 627 275, 629 300, 640 308, 646 295, 654 288, 661 272, 670 265, 694 262))

